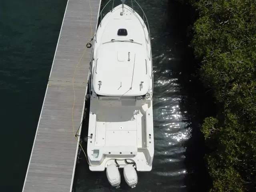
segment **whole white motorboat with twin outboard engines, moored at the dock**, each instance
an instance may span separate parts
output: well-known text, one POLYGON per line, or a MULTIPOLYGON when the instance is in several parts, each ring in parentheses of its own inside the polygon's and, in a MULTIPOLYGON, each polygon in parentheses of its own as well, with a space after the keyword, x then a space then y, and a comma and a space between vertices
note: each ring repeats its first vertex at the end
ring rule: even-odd
POLYGON ((144 12, 139 16, 133 9, 137 2, 132 3, 121 2, 102 18, 91 61, 89 168, 106 168, 108 181, 117 188, 118 168, 133 188, 136 171, 152 170, 154 156, 150 32, 144 12))

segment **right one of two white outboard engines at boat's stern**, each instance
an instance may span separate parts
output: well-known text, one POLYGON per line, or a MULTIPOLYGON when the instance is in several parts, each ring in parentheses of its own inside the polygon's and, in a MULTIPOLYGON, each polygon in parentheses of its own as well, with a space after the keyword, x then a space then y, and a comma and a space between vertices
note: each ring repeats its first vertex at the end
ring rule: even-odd
POLYGON ((138 183, 138 176, 132 164, 124 166, 124 180, 131 188, 136 187, 136 184, 138 183))

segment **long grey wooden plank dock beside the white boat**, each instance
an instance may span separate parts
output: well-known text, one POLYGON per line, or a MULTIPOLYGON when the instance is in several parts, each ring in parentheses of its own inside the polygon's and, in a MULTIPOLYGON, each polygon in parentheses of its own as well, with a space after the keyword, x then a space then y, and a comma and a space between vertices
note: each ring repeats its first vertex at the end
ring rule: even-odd
POLYGON ((72 191, 100 4, 67 2, 22 192, 72 191))

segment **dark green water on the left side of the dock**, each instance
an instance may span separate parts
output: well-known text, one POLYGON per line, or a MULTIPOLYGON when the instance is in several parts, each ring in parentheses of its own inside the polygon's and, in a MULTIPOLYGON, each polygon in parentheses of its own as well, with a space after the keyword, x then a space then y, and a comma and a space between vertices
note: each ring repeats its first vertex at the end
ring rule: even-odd
POLYGON ((21 191, 62 18, 63 0, 0 1, 1 191, 21 191))

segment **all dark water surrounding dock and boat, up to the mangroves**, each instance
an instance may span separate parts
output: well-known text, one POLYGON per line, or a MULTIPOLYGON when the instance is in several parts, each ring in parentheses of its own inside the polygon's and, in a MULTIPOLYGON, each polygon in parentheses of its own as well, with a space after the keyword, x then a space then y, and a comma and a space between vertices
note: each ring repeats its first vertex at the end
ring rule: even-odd
MULTIPOLYGON (((138 2, 152 37, 153 169, 138 174, 133 190, 124 179, 116 190, 105 173, 89 171, 81 154, 73 191, 206 191, 206 149, 199 127, 213 106, 210 91, 192 75, 198 64, 187 34, 194 14, 175 0, 138 2)), ((62 0, 0 2, 1 191, 22 189, 65 7, 62 0)), ((86 125, 82 134, 86 135, 86 125)))

